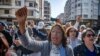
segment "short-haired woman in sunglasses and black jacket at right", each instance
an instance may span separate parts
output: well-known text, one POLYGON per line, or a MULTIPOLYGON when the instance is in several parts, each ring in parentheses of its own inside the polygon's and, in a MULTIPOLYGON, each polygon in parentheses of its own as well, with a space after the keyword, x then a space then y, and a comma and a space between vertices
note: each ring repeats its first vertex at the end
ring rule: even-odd
POLYGON ((91 28, 82 32, 83 43, 74 48, 74 56, 100 56, 100 47, 94 45, 95 33, 91 28))

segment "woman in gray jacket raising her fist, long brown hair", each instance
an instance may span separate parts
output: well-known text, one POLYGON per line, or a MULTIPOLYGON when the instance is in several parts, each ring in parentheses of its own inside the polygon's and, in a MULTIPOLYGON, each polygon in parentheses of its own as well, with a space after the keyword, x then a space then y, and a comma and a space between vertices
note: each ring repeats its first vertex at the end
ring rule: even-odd
POLYGON ((25 29, 27 18, 27 8, 23 7, 16 12, 19 24, 19 38, 24 47, 34 52, 41 52, 41 56, 73 56, 72 50, 66 45, 64 30, 60 24, 52 27, 48 36, 48 41, 32 40, 25 29))

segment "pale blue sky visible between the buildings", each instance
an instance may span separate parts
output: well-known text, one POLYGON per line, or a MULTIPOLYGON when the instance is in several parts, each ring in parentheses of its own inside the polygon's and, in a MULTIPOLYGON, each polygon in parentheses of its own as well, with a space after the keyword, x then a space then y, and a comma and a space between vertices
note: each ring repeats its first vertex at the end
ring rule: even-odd
POLYGON ((51 4, 51 17, 56 18, 64 12, 64 6, 67 0, 48 0, 51 4))

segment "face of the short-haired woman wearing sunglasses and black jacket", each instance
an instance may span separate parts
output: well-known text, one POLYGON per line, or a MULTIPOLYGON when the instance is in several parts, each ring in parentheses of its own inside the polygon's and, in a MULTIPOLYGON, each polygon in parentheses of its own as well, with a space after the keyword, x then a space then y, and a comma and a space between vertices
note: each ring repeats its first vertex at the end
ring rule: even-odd
POLYGON ((88 31, 83 40, 85 43, 93 44, 95 40, 95 35, 93 34, 93 32, 88 31))

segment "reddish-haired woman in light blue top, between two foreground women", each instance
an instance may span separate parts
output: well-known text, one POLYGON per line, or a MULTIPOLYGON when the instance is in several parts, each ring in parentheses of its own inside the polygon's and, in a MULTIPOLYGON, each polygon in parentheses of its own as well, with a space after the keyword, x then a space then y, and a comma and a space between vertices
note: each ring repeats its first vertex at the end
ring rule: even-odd
POLYGON ((72 47, 72 49, 81 44, 81 41, 78 39, 78 30, 73 26, 67 28, 66 37, 68 44, 72 47))

